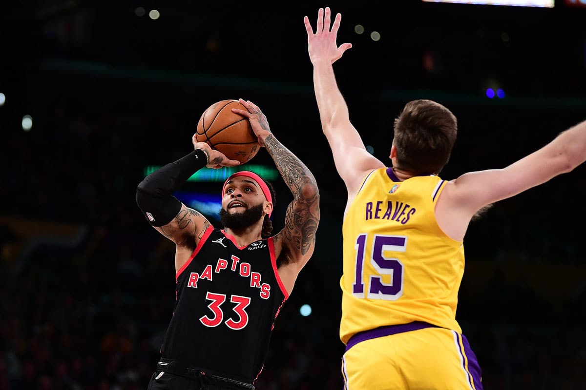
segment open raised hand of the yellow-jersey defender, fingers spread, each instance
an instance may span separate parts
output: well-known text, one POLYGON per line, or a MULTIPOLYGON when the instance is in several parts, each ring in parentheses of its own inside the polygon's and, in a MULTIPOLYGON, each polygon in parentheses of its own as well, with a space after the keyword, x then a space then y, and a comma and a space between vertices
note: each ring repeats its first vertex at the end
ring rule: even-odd
POLYGON ((342 14, 338 13, 336 19, 333 22, 332 29, 330 30, 331 23, 331 12, 329 7, 326 7, 325 12, 323 8, 318 11, 318 23, 316 30, 311 27, 309 18, 305 16, 305 30, 307 30, 307 42, 309 59, 312 64, 316 64, 319 61, 328 61, 329 63, 335 63, 342 54, 350 47, 352 43, 343 43, 338 47, 336 38, 338 36, 338 29, 340 28, 340 20, 342 20, 342 14))

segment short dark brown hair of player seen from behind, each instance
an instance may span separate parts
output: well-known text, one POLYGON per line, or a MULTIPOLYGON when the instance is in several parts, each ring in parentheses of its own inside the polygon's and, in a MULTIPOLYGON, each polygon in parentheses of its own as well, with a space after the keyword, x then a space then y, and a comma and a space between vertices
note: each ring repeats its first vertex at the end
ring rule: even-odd
POLYGON ((414 174, 438 174, 452 153, 458 122, 440 103, 414 100, 395 119, 394 130, 396 168, 414 174))

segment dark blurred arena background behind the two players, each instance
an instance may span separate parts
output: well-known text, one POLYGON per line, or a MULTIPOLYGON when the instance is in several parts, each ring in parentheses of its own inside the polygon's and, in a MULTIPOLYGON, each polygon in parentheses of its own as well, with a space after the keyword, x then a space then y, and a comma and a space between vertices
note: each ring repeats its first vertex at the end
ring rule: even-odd
MULTIPOLYGON (((322 200, 315 254, 257 388, 342 387, 346 192, 321 132, 303 16, 315 26, 319 6, 342 12, 338 42, 354 47, 335 64, 338 83, 384 163, 393 119, 415 98, 458 117, 445 179, 505 167, 586 119, 583 1, 379 3, 2 2, 1 390, 146 388, 175 302, 174 246, 141 216, 135 188, 145 167, 192 150, 207 106, 237 98, 263 109, 322 200)), ((251 163, 273 166, 265 151, 251 163)), ((585 173, 499 202, 469 228, 456 318, 485 389, 586 388, 585 173)), ((291 194, 274 184, 281 229, 291 194)), ((219 199, 220 186, 183 189, 219 199)))

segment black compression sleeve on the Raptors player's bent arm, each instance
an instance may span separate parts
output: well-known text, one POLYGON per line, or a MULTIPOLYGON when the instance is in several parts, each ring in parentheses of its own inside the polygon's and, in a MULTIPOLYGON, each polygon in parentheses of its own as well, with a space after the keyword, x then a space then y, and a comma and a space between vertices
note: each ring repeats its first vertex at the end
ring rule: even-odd
POLYGON ((138 184, 137 205, 152 226, 165 226, 175 218, 181 202, 171 194, 206 164, 206 154, 196 149, 175 163, 152 172, 138 184))

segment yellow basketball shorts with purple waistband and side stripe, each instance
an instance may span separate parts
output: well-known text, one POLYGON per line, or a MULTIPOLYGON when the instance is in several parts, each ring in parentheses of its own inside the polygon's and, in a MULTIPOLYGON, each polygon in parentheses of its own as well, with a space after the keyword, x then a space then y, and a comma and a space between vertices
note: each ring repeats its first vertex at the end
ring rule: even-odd
POLYGON ((463 334, 423 322, 355 334, 342 357, 345 390, 482 390, 463 334))

